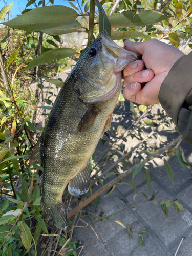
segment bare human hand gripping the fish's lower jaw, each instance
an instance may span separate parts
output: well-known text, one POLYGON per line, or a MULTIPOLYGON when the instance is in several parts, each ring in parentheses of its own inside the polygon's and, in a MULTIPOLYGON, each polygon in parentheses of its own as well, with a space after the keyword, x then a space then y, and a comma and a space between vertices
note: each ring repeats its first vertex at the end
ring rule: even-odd
POLYGON ((123 70, 125 99, 142 105, 159 103, 161 84, 184 53, 156 39, 140 43, 126 40, 124 48, 143 55, 142 60, 130 63, 123 70), (143 70, 144 65, 146 70, 143 70), (146 84, 143 86, 142 83, 146 84))

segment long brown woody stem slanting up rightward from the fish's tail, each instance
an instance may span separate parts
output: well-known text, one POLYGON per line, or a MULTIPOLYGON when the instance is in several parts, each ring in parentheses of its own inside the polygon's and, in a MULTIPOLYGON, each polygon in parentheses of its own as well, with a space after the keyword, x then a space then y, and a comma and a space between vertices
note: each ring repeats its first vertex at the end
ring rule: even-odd
MULTIPOLYGON (((167 145, 162 147, 162 150, 159 152, 159 155, 163 154, 168 147, 173 146, 175 143, 178 142, 178 140, 180 140, 182 138, 182 135, 179 135, 175 140, 173 140, 172 142, 168 143, 167 145)), ((140 166, 143 163, 147 163, 148 161, 154 159, 156 156, 148 156, 145 160, 141 161, 140 163, 132 166, 130 169, 126 170, 123 174, 119 175, 117 178, 115 178, 114 180, 110 181, 108 184, 104 185, 103 187, 101 187, 99 190, 97 190, 94 194, 92 194, 88 199, 86 199, 84 202, 82 202, 81 204, 79 204, 78 206, 76 206, 74 209, 72 209, 67 217, 70 218, 73 215, 75 215, 79 210, 81 210, 83 207, 87 206, 89 203, 91 203, 96 197, 98 197, 100 194, 102 194, 106 189, 109 189, 110 187, 112 187, 113 185, 115 185, 117 182, 121 181, 124 177, 130 175, 133 173, 134 169, 138 166, 140 166)))

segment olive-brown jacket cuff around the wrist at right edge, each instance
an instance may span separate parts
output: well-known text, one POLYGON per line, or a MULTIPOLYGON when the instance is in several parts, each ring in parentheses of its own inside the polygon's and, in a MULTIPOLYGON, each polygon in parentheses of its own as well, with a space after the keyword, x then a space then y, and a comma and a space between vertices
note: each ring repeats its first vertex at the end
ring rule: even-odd
POLYGON ((192 86, 189 79, 192 67, 192 52, 179 58, 161 84, 159 101, 178 127, 178 116, 192 86))

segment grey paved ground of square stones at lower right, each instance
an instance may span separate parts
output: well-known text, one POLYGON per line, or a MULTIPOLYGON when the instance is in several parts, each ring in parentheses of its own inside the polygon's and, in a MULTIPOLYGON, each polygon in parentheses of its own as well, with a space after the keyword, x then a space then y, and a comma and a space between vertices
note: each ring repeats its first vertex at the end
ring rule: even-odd
MULTIPOLYGON (((122 116, 129 112, 129 102, 125 102, 125 110, 119 110, 122 116)), ((126 123, 130 119, 128 115, 123 119, 126 123)), ((112 123, 112 126, 115 126, 112 123)), ((178 132, 160 133, 162 138, 172 141, 179 136, 178 132)), ((130 141, 132 146, 136 141, 130 141)), ((192 145, 182 141, 181 146, 184 150, 186 160, 192 164, 192 145)), ((183 168, 177 161, 176 156, 168 160, 174 173, 173 183, 167 176, 166 169, 161 157, 155 158, 153 164, 149 164, 148 171, 151 177, 151 187, 148 198, 153 191, 157 190, 156 200, 163 198, 178 199, 184 211, 175 212, 172 206, 168 207, 168 218, 161 210, 160 203, 154 205, 152 202, 143 202, 134 205, 134 208, 125 209, 135 201, 146 200, 139 191, 147 191, 147 182, 144 168, 134 178, 137 186, 138 196, 129 185, 116 185, 113 192, 104 197, 104 192, 100 196, 98 205, 93 203, 82 209, 80 219, 76 222, 73 232, 73 241, 80 241, 84 246, 81 256, 191 256, 192 255, 192 173, 191 168, 183 168), (135 200, 135 201, 134 201, 135 200), (123 210, 123 211, 121 211, 123 210), (104 219, 105 215, 116 215, 104 219), (102 216, 102 221, 95 221, 98 216, 102 216), (126 228, 115 221, 120 221, 126 228), (87 227, 85 225, 89 224, 87 227), (127 227, 132 231, 132 237, 127 232, 127 227), (142 233, 144 245, 138 241, 139 232, 142 233), (182 240, 182 238, 184 238, 182 240), (181 243, 179 251, 176 251, 181 243)), ((110 177, 111 178, 111 177, 110 177)), ((114 177, 113 177, 114 178, 114 177)), ((130 183, 128 177, 122 180, 130 183)), ((100 185, 98 186, 100 187, 100 185)), ((98 187, 93 190, 98 190, 98 187)), ((77 250, 77 255, 80 249, 77 250)))

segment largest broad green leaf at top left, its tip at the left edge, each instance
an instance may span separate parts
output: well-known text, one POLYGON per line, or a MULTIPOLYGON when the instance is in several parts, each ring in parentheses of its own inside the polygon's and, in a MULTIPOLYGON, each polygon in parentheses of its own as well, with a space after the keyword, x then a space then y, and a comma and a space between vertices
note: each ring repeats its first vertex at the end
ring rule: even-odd
POLYGON ((55 28, 72 22, 78 16, 77 12, 69 7, 56 5, 32 9, 18 17, 2 24, 25 31, 37 31, 55 28))

